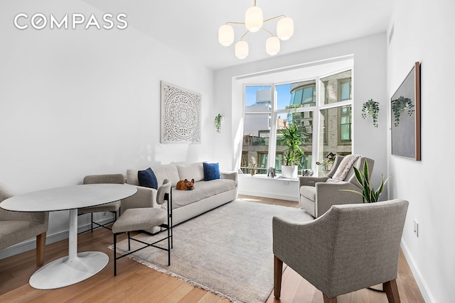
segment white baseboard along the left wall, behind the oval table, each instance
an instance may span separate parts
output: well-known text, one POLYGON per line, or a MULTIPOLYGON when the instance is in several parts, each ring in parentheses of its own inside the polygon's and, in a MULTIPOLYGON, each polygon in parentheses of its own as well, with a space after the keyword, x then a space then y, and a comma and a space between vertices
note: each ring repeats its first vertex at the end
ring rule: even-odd
MULTIPOLYGON (((112 221, 112 218, 102 219, 97 221, 100 224, 106 224, 112 221)), ((90 222, 88 224, 78 226, 77 233, 82 233, 82 231, 90 230, 90 222)), ((52 235, 46 235, 45 245, 49 245, 58 241, 68 239, 68 229, 65 231, 59 231, 58 233, 53 233, 52 235)), ((33 250, 36 248, 36 237, 30 238, 21 243, 17 243, 14 246, 9 246, 4 250, 0 250, 0 260, 9 258, 13 255, 18 255, 19 253, 25 253, 28 250, 33 250)), ((45 255, 45 254, 44 254, 45 255)))

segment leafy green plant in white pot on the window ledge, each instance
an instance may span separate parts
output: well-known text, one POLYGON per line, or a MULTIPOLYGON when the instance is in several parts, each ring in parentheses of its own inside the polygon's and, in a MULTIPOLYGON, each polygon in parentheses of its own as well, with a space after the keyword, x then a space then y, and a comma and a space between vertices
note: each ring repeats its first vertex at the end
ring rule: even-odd
POLYGON ((279 133, 282 135, 282 142, 287 147, 283 153, 282 177, 296 178, 300 161, 304 157, 305 148, 302 145, 305 136, 296 125, 281 129, 279 133))

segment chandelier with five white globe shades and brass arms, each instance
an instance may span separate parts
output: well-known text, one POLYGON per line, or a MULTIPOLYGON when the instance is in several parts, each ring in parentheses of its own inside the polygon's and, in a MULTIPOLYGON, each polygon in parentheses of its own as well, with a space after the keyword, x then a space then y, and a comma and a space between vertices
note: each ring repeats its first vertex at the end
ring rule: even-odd
POLYGON ((230 24, 245 24, 247 32, 242 35, 240 41, 235 43, 235 56, 245 59, 248 56, 248 43, 243 40, 247 33, 256 33, 259 30, 269 33, 270 37, 265 41, 265 50, 269 55, 277 55, 280 49, 279 40, 288 40, 294 34, 294 21, 291 18, 280 15, 264 20, 262 9, 255 5, 245 12, 245 22, 226 22, 218 29, 218 41, 221 45, 229 46, 234 42, 234 28, 230 24), (277 36, 262 27, 263 23, 278 19, 277 36))

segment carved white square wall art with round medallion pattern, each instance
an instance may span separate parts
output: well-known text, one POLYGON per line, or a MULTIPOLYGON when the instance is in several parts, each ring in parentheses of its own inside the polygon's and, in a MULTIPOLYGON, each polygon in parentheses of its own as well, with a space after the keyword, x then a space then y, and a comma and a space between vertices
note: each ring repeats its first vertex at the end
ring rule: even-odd
POLYGON ((201 96, 161 81, 161 143, 200 143, 201 96))

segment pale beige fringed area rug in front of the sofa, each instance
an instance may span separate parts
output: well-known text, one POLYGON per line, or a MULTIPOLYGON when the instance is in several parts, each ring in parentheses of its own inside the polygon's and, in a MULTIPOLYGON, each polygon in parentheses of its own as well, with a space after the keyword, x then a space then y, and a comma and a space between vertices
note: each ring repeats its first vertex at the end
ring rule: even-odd
MULTIPOLYGON (((231 302, 265 302, 273 289, 273 216, 313 219, 302 209, 237 199, 173 228, 171 266, 167 252, 156 248, 129 257, 231 302)), ((134 237, 151 242, 163 235, 134 237)), ((132 250, 141 246, 131 243, 132 250)), ((118 253, 127 249, 127 240, 117 244, 118 253)))

